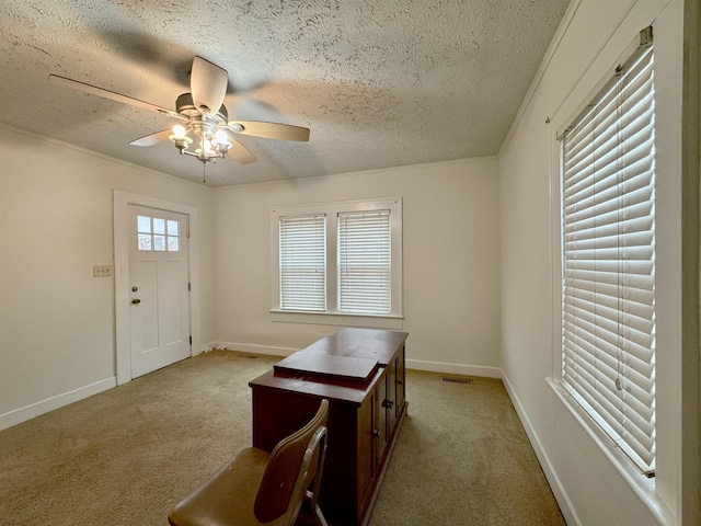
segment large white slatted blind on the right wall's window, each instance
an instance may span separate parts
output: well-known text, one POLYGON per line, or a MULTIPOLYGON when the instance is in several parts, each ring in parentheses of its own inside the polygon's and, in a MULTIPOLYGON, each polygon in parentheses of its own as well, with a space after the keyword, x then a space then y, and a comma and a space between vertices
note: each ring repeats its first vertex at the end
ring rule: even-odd
POLYGON ((652 43, 562 137, 562 384, 647 476, 655 470, 655 113, 652 43))

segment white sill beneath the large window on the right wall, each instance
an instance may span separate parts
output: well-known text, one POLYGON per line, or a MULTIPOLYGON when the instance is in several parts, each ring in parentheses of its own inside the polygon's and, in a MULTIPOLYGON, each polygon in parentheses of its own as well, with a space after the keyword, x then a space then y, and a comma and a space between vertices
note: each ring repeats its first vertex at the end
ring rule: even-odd
POLYGON ((545 378, 545 381, 574 419, 582 425, 586 434, 594 441, 604 456, 633 489, 641 502, 657 517, 659 524, 673 524, 674 521, 669 510, 655 493, 655 479, 648 479, 633 466, 625 454, 616 447, 613 442, 599 428, 586 411, 574 401, 572 396, 558 380, 545 378))

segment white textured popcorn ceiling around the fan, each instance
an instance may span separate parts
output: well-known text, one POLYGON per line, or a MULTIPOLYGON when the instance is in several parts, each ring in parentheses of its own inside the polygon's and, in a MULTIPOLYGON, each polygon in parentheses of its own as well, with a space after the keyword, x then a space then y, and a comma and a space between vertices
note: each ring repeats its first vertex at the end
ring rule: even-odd
POLYGON ((229 72, 231 118, 306 126, 238 136, 258 159, 207 184, 496 153, 567 0, 3 0, 0 121, 200 182, 157 113, 49 84, 56 73, 175 108, 199 55, 229 72))

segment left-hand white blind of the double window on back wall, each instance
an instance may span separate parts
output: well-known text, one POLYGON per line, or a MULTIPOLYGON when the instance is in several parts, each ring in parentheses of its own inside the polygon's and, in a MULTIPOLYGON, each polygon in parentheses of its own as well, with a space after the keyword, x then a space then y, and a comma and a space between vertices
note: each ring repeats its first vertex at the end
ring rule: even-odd
POLYGON ((326 218, 279 218, 280 307, 326 309, 326 218))

